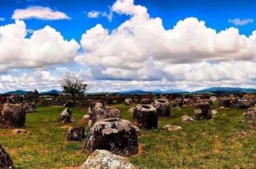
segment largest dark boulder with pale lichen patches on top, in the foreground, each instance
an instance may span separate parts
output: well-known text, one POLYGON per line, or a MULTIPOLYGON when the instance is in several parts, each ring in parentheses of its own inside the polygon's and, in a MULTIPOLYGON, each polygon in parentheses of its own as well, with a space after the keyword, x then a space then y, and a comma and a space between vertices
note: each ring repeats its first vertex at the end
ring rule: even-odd
POLYGON ((133 124, 125 119, 112 118, 96 122, 84 145, 84 151, 109 150, 115 155, 138 153, 138 137, 133 124))

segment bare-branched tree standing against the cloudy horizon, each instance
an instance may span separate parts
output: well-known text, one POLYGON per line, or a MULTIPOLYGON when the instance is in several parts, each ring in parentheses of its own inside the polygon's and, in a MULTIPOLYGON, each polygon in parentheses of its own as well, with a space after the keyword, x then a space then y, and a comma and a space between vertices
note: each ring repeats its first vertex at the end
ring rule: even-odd
POLYGON ((78 97, 79 100, 83 99, 84 93, 91 88, 91 85, 86 83, 84 78, 74 72, 64 73, 59 79, 59 83, 61 83, 63 92, 71 94, 71 99, 74 104, 76 97, 78 97))

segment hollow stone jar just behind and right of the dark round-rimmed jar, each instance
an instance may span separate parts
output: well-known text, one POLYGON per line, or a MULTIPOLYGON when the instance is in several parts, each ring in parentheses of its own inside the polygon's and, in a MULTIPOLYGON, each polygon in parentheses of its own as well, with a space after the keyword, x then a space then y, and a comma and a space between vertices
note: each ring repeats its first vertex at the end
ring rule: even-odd
POLYGON ((164 99, 156 99, 152 106, 156 108, 156 113, 159 117, 171 117, 171 110, 169 109, 169 101, 164 99))

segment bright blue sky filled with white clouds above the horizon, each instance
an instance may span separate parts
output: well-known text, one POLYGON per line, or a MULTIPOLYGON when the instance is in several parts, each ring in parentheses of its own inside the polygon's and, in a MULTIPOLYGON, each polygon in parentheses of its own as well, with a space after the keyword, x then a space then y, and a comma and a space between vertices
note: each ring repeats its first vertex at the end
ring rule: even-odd
POLYGON ((254 0, 0 0, 0 93, 256 88, 254 0))

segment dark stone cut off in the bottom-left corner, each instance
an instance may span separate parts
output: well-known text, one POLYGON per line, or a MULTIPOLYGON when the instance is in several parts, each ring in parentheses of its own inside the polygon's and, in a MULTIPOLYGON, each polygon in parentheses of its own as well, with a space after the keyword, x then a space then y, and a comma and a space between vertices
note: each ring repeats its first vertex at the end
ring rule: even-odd
POLYGON ((1 169, 14 169, 14 163, 9 154, 4 150, 0 143, 0 168, 1 169))

